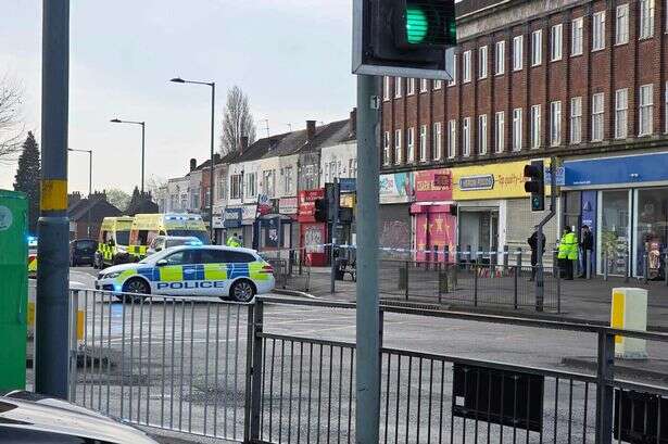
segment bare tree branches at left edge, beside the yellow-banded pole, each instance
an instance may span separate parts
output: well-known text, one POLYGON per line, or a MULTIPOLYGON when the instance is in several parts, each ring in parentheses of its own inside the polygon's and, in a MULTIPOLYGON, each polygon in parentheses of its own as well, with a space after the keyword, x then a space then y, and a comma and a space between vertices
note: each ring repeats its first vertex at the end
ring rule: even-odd
POLYGON ((21 106, 23 92, 8 76, 0 78, 0 162, 15 160, 21 151, 23 125, 21 106))

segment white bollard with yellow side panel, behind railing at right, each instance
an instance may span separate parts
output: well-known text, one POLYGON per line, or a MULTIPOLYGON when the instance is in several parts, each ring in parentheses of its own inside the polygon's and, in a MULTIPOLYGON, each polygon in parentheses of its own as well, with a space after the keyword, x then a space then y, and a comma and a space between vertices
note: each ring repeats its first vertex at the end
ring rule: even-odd
MULTIPOLYGON (((610 327, 623 330, 647 330, 647 290, 613 289, 610 327)), ((622 359, 646 359, 644 339, 615 337, 615 356, 622 359)))

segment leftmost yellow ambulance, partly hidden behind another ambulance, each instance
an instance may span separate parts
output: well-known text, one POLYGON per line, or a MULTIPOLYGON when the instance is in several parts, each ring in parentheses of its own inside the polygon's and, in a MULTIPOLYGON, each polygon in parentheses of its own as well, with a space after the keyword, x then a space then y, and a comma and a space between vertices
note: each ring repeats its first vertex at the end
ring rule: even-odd
POLYGON ((128 245, 133 218, 129 216, 105 217, 100 226, 98 237, 98 253, 94 266, 104 268, 109 265, 129 262, 128 245))

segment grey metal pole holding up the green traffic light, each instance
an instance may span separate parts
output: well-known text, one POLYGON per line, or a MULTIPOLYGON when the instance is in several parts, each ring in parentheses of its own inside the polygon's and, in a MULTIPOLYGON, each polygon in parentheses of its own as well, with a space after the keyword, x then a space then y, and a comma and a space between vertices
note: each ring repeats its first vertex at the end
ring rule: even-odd
POLYGON ((377 443, 380 419, 378 338, 378 77, 357 76, 357 312, 355 430, 357 443, 377 443))

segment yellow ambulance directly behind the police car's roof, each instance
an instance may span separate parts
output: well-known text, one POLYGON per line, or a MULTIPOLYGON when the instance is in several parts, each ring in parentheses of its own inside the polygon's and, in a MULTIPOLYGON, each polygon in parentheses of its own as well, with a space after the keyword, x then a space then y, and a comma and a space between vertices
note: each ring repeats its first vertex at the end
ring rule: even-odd
POLYGON ((209 245, 209 231, 199 214, 137 214, 130 229, 130 254, 147 255, 148 245, 159 236, 194 237, 209 245))

